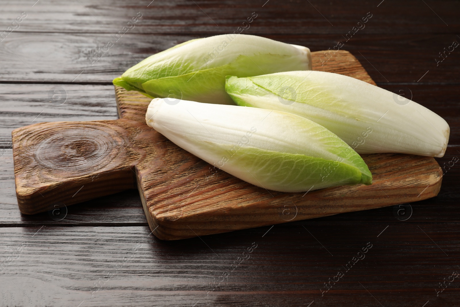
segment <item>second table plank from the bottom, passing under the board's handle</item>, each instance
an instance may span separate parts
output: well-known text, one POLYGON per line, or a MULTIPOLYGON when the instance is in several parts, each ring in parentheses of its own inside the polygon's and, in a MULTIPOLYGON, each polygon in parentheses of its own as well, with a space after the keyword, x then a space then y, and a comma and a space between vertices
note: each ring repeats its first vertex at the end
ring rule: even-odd
MULTIPOLYGON (((0 157, 0 224, 13 225, 142 225, 147 226, 144 210, 137 190, 128 190, 111 196, 100 197, 75 204, 66 209, 35 215, 20 214, 17 209, 12 150, 7 149, 0 157), (65 214, 67 210, 67 214, 65 214)), ((449 146, 446 155, 436 158, 443 169, 443 184, 437 197, 410 203, 403 207, 393 206, 357 212, 342 213, 315 219, 317 225, 335 227, 338 224, 362 222, 363 220, 391 221, 405 219, 406 223, 457 222, 459 212, 458 197, 460 191, 460 146, 449 146), (455 162, 457 161, 457 162, 455 162), (443 209, 439 210, 439 203, 443 209), (396 209, 395 209, 396 208, 396 209), (403 209, 402 211, 398 211, 403 209), (396 210, 396 211, 395 211, 396 210), (411 214, 412 213, 412 214, 411 214), (407 214, 405 217, 404 214, 407 214)), ((54 208, 53 208, 54 210, 54 208)))

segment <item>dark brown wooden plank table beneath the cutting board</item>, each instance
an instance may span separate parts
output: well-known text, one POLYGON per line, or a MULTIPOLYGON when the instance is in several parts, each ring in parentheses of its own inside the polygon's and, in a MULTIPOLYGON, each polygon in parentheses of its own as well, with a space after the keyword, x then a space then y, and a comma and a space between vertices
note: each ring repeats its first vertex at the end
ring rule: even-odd
POLYGON ((460 306, 459 1, 35 1, 0 6, 0 306, 460 306), (174 242, 150 234, 135 190, 19 213, 12 129, 116 119, 114 77, 238 27, 312 51, 342 41, 380 87, 443 116, 439 195, 174 242))

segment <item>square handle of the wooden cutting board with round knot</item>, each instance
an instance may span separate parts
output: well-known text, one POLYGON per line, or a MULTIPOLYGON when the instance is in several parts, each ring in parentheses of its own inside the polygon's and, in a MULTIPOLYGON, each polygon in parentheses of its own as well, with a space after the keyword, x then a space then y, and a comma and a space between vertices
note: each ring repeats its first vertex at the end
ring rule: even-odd
POLYGON ((19 210, 35 214, 136 188, 152 129, 120 119, 43 122, 12 132, 19 210))

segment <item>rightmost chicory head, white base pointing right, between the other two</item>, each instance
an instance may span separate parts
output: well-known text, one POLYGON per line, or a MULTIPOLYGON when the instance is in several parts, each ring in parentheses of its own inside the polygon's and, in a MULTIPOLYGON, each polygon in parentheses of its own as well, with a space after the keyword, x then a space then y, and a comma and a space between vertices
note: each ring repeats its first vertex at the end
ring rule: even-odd
POLYGON ((337 134, 358 153, 441 157, 449 125, 436 113, 383 88, 345 75, 290 71, 228 76, 236 104, 304 116, 337 134))

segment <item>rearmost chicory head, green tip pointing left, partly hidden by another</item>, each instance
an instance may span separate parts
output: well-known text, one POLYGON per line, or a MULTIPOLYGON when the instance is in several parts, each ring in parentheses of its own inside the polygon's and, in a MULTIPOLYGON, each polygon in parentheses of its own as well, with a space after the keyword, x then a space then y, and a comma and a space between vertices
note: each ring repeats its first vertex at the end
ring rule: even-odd
POLYGON ((311 70, 310 49, 268 38, 228 34, 186 41, 128 69, 115 85, 148 97, 234 104, 225 76, 311 70))

